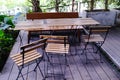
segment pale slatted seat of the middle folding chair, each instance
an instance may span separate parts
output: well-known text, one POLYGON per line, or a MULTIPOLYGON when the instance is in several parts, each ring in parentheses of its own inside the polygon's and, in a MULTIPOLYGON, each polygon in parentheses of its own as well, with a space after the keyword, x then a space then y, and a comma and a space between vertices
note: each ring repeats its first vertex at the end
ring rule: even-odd
POLYGON ((69 52, 69 44, 58 44, 58 43, 49 43, 46 47, 46 52, 49 53, 57 53, 57 54, 68 54, 69 52))

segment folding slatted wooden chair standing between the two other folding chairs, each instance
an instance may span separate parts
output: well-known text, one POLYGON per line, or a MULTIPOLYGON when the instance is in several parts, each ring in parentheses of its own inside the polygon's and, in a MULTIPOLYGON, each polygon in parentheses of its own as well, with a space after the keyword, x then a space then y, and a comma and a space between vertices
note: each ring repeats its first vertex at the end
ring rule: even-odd
MULTIPOLYGON (((65 69, 66 66, 68 65, 67 63, 67 54, 69 53, 69 44, 67 44, 67 36, 52 36, 52 35, 44 35, 41 37, 47 37, 47 47, 46 47, 46 54, 48 55, 48 64, 50 63, 50 65, 52 65, 52 67, 54 67, 54 63, 52 63, 52 61, 50 60, 50 55, 52 56, 60 56, 60 57, 64 57, 64 61, 62 63, 60 63, 61 65, 64 64, 64 70, 62 71, 62 76, 65 79, 65 69)), ((55 61, 56 62, 56 61, 55 61)), ((48 73, 47 73, 48 74, 48 73)), ((54 74, 54 73, 53 73, 54 74)))

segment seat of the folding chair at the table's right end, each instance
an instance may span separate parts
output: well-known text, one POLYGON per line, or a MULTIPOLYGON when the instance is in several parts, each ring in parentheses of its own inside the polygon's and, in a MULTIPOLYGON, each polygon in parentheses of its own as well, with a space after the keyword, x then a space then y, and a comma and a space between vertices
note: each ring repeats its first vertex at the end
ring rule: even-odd
POLYGON ((102 42, 102 41, 104 41, 103 37, 99 34, 91 35, 89 40, 88 40, 88 36, 83 35, 83 40, 85 42, 102 42))

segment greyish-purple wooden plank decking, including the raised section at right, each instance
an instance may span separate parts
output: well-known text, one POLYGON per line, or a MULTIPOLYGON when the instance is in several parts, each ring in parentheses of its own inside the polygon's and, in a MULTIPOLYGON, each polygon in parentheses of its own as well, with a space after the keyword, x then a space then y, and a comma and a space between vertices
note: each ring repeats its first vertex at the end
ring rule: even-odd
MULTIPOLYGON (((114 40, 114 38, 107 38, 106 41, 106 45, 103 46, 103 48, 107 51, 107 52, 116 52, 116 54, 114 56, 118 57, 118 59, 120 59, 120 55, 119 54, 119 49, 118 48, 114 48, 112 51, 110 48, 111 45, 108 42, 113 42, 111 43, 112 45, 114 43, 119 43, 119 39, 120 39, 120 35, 119 35, 119 31, 115 34, 118 34, 118 36, 116 36, 116 40, 114 40), (118 39, 119 37, 119 39, 118 39), (111 39, 111 40, 109 40, 111 39), (117 41, 118 40, 118 41, 117 41), (108 43, 108 44, 107 44, 108 43), (118 51, 116 51, 115 49, 118 49, 118 51), (117 53, 118 52, 118 53, 117 53)), ((115 32, 114 30, 111 32, 115 32)), ((22 37, 23 37, 23 44, 27 43, 27 39, 26 39, 26 32, 22 31, 21 32, 22 37)), ((113 37, 114 34, 110 34, 110 36, 113 37)), ((120 43, 119 43, 120 44, 120 43)), ((114 44, 115 45, 115 44, 114 44)), ((117 45, 115 45, 117 46, 117 45)), ((118 45, 119 46, 119 45, 118 45)), ((11 51, 11 55, 18 53, 20 47, 20 40, 19 37, 17 38, 17 41, 13 47, 13 50, 11 51)), ((75 52, 77 52, 77 55, 69 55, 67 57, 68 60, 68 64, 69 66, 66 69, 66 74, 65 77, 67 80, 120 80, 120 72, 118 72, 103 56, 103 62, 104 63, 100 63, 99 61, 95 60, 96 58, 98 59, 98 54, 94 54, 94 53, 90 53, 89 55, 89 59, 93 59, 93 60, 89 60, 89 63, 86 64, 85 63, 85 55, 81 55, 81 50, 80 50, 80 46, 72 46, 71 47, 71 54, 75 54, 75 52), (77 51, 76 51, 76 49, 77 51)), ((113 55, 112 55, 113 56, 113 55)), ((42 61, 40 63, 41 68, 43 69, 44 66, 44 61, 42 61)), ((23 73, 25 73, 27 70, 31 71, 31 69, 33 69, 33 65, 26 67, 26 69, 23 71, 23 73)), ((13 61, 9 58, 2 73, 0 73, 0 80, 15 80, 16 76, 18 74, 18 69, 17 66, 13 63, 13 61)), ((26 80, 42 80, 41 74, 39 72, 39 70, 37 70, 37 72, 30 72, 28 75, 24 75, 24 77, 26 77, 26 80)), ((19 80, 22 80, 22 78, 19 78, 19 80)), ((54 77, 50 77, 47 78, 47 80, 62 80, 60 78, 54 78, 54 77)))

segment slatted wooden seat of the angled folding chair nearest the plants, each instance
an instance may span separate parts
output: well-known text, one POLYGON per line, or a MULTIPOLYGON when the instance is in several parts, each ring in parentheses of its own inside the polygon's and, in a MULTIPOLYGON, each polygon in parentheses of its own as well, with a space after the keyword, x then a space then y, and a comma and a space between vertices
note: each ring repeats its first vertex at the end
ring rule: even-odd
MULTIPOLYGON (((42 55, 40 53, 38 53, 36 50, 32 50, 30 52, 26 52, 24 54, 24 64, 30 63, 33 60, 36 60, 38 58, 41 58, 42 55)), ((14 60, 14 62, 18 65, 21 66, 22 63, 22 54, 18 53, 15 54, 13 56, 11 56, 11 58, 14 60)))

